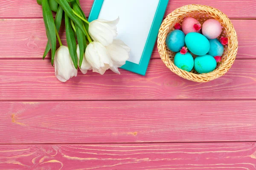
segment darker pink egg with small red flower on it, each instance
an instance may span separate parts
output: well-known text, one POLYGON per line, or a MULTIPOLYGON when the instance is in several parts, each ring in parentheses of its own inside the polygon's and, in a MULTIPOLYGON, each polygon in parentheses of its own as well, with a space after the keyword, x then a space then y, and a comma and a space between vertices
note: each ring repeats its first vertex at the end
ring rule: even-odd
POLYGON ((197 32, 199 33, 201 30, 201 24, 198 22, 198 20, 196 20, 195 18, 192 17, 186 17, 183 21, 182 21, 182 31, 184 32, 184 34, 189 34, 190 32, 197 32), (195 29, 195 24, 199 25, 199 30, 195 29))

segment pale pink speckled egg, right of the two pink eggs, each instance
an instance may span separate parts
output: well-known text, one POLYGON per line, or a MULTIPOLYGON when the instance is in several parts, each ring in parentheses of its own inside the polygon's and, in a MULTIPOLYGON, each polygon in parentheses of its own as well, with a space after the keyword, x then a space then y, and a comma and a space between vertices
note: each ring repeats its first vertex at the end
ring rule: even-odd
POLYGON ((215 19, 209 19, 204 22, 202 27, 202 33, 208 39, 215 39, 221 35, 222 27, 221 23, 219 23, 215 19))

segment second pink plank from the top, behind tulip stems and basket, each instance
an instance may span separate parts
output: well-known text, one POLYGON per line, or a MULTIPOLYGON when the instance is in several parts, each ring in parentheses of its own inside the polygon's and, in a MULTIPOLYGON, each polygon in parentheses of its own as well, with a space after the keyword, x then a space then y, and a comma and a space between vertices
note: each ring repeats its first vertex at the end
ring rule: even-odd
MULTIPOLYGON (((232 20, 232 22, 238 34, 238 58, 255 59, 256 32, 254 28, 256 27, 256 20, 232 20)), ((65 41, 63 27, 60 34, 62 40, 65 41)), ((44 54, 47 37, 43 19, 0 20, 0 36, 0 59, 41 59, 44 54)), ((152 58, 160 58, 156 47, 152 58)))

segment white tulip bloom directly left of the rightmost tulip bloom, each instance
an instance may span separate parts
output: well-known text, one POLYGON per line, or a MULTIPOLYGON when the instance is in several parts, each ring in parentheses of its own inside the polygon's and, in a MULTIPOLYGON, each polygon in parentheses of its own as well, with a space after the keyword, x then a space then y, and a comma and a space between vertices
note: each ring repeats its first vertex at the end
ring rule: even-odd
POLYGON ((93 72, 99 74, 104 74, 106 70, 113 67, 106 48, 99 42, 90 42, 85 50, 85 58, 93 67, 93 72))

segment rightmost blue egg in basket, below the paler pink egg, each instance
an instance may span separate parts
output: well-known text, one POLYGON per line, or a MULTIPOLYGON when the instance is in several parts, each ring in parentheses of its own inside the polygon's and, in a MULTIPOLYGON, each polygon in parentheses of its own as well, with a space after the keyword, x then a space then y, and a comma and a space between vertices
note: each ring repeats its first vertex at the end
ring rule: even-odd
POLYGON ((210 50, 207 54, 212 57, 222 56, 224 52, 224 47, 218 39, 209 40, 210 42, 210 50))

